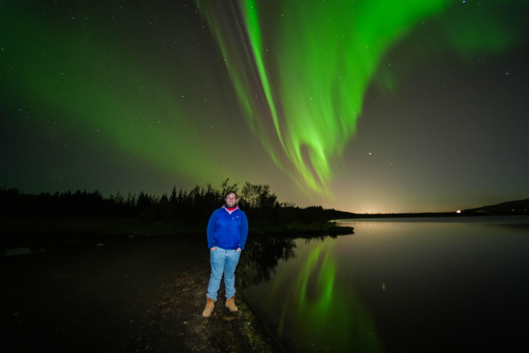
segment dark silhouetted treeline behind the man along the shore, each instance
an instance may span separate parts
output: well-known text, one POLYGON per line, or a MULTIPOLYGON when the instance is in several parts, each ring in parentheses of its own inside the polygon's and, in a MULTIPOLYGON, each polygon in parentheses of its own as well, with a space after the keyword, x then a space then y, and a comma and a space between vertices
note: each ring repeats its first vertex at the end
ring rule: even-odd
MULTIPOLYGON (((236 191, 238 205, 247 213, 254 230, 262 232, 310 232, 314 225, 328 227, 331 219, 348 218, 348 212, 324 209, 321 206, 296 207, 294 203, 280 203, 269 185, 246 182, 238 183, 226 179, 220 189, 211 183, 196 185, 191 190, 176 189, 161 196, 140 192, 127 195, 117 192, 104 197, 101 192, 76 190, 72 192, 41 192, 23 194, 17 188, 0 189, 0 206, 4 216, 85 218, 85 217, 129 217, 145 222, 173 222, 203 227, 211 212, 225 203, 225 194, 236 191)), ((318 228, 316 227, 316 228, 318 228)))

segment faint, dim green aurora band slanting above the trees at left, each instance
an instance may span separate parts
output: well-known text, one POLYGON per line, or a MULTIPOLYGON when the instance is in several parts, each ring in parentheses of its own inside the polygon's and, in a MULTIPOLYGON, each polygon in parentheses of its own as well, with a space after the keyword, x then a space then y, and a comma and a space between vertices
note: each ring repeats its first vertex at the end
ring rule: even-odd
POLYGON ((160 75, 112 42, 82 30, 59 31, 28 10, 0 5, 0 34, 6 34, 1 84, 9 89, 12 110, 23 107, 44 130, 55 125, 59 134, 103 134, 115 150, 195 182, 229 174, 218 162, 220 149, 196 143, 208 139, 208 131, 191 123, 196 108, 179 104, 175 88, 160 75))

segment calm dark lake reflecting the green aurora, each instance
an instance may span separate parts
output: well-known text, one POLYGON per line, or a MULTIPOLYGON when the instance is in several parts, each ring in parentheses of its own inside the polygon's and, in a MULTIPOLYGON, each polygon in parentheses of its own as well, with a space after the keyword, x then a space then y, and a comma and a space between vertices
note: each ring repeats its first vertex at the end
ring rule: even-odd
POLYGON ((529 352, 528 216, 340 223, 245 250, 245 300, 287 352, 529 352))

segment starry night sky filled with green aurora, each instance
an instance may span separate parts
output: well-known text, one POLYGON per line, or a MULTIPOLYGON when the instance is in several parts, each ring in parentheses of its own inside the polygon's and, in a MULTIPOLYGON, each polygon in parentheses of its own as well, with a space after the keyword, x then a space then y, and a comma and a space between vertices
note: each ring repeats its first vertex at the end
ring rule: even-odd
POLYGON ((526 0, 0 0, 0 186, 529 198, 526 0))

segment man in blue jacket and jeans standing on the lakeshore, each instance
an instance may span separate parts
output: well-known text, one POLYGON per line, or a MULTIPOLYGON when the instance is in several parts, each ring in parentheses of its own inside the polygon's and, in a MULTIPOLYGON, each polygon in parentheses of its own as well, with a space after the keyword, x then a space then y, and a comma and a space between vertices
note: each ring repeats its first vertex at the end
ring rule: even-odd
POLYGON ((211 276, 206 294, 206 307, 203 317, 211 316, 220 280, 224 273, 226 288, 225 306, 231 312, 238 309, 235 305, 235 269, 239 263, 240 252, 245 250, 248 236, 248 219, 245 212, 237 206, 238 196, 230 191, 226 194, 226 203, 222 208, 215 210, 207 223, 207 247, 211 262, 211 276))

